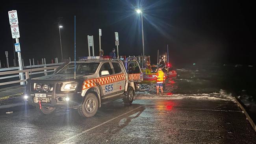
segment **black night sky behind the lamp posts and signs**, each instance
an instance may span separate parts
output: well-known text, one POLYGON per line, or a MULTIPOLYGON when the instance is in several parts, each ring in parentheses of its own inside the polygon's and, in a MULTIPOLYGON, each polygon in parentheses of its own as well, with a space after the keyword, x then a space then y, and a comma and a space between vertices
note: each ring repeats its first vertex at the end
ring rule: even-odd
MULTIPOLYGON (((1 4, 0 59, 4 51, 13 59, 13 40, 7 12, 18 11, 20 45, 24 63, 58 56, 60 59, 58 17, 61 20, 63 57, 74 58, 74 15, 76 15, 77 57, 88 55, 87 35, 94 35, 98 54, 98 29, 102 29, 105 54, 115 47, 114 32, 119 32, 119 54, 142 53, 141 19, 134 11, 143 7, 145 53, 156 63, 157 50, 169 55, 174 65, 201 63, 255 64, 254 5, 223 0, 10 0, 1 4)), ((11 61, 11 60, 10 60, 11 61)), ((12 66, 12 61, 10 62, 12 66)))

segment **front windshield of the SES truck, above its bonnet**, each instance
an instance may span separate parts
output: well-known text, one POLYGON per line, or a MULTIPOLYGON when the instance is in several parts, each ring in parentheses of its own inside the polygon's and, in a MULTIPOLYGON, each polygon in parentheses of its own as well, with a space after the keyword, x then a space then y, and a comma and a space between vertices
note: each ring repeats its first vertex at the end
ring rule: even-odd
MULTIPOLYGON (((57 74, 74 74, 74 63, 69 63, 57 74)), ((76 74, 94 74, 99 63, 76 63, 76 74)))

